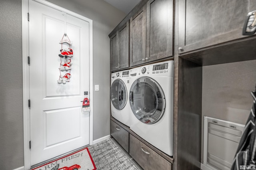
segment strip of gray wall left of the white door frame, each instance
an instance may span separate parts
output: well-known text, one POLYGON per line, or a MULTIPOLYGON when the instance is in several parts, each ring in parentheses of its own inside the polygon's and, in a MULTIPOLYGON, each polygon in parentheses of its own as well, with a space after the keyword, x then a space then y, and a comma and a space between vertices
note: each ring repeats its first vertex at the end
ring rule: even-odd
POLYGON ((0 169, 24 165, 21 0, 0 3, 0 169))

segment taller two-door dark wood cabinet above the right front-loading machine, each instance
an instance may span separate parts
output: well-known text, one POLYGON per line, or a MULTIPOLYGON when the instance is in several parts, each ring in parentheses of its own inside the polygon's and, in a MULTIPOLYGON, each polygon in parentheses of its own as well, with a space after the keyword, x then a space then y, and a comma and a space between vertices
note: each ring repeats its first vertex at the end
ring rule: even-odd
POLYGON ((130 18, 130 66, 173 55, 173 1, 149 0, 130 18))

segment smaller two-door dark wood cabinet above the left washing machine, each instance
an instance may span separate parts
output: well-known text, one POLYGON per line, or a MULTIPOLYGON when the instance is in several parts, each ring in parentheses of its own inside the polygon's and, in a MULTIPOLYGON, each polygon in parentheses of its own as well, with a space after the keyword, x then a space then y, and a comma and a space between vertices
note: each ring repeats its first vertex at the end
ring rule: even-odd
POLYGON ((129 67, 129 22, 110 37, 111 71, 129 67))

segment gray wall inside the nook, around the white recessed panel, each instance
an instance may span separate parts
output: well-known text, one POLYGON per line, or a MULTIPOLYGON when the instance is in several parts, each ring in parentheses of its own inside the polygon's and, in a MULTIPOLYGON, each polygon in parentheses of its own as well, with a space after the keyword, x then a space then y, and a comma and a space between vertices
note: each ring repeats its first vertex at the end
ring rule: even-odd
MULTIPOLYGON (((202 159, 204 116, 245 124, 255 90, 256 60, 204 66, 202 69, 202 159)), ((202 160, 203 161, 203 160, 202 160)))

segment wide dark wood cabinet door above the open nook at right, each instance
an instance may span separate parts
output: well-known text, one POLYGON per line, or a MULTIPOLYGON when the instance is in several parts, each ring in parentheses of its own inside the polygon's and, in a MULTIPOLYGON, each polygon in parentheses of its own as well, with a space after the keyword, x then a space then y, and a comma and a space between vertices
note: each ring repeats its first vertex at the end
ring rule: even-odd
POLYGON ((244 38, 255 0, 179 0, 179 53, 244 38))

